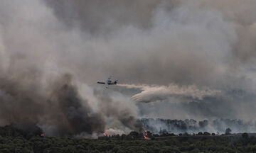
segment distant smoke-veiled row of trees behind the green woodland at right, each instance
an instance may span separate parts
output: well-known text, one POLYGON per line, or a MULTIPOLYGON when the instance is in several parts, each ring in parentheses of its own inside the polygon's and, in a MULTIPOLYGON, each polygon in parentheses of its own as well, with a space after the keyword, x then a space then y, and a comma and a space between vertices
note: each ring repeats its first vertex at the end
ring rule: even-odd
POLYGON ((137 122, 142 125, 145 130, 153 133, 159 133, 160 130, 168 132, 225 132, 226 128, 231 128, 233 132, 256 132, 256 123, 246 122, 244 120, 216 119, 216 120, 170 120, 161 118, 142 118, 137 122))

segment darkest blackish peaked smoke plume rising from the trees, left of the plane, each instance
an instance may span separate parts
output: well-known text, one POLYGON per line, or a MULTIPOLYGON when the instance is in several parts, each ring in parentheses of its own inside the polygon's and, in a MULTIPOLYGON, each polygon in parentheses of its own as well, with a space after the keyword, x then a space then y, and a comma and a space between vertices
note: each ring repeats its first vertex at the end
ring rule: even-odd
MULTIPOLYGON (((83 100, 76 86, 72 84, 70 74, 58 78, 50 86, 47 101, 48 120, 53 118, 58 135, 78 135, 81 132, 92 134, 104 132, 105 122, 100 113, 92 112, 86 100, 83 100)), ((47 120, 46 120, 47 122, 47 120)))

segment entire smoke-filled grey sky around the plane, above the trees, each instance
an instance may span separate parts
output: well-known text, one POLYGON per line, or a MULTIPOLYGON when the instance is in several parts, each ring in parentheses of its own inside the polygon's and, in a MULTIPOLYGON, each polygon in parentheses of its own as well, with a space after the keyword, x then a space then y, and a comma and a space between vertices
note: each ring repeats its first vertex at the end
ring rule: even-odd
POLYGON ((139 129, 142 117, 254 120, 255 8, 255 0, 2 0, 0 123, 97 137, 139 129), (96 84, 110 75, 119 86, 96 84))

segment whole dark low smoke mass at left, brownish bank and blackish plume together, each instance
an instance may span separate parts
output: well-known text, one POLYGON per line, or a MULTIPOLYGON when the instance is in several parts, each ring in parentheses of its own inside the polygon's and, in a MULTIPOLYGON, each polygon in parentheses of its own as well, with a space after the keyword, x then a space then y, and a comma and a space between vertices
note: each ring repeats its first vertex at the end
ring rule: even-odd
POLYGON ((12 123, 21 129, 41 125, 48 135, 104 132, 102 116, 80 97, 70 74, 55 78, 44 95, 38 91, 41 84, 21 82, 1 78, 1 125, 12 123))

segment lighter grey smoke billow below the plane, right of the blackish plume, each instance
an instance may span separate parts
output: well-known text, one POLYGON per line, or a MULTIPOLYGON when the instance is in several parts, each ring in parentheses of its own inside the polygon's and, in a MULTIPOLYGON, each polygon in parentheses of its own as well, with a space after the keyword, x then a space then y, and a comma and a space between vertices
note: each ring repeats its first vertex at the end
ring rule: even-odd
MULTIPOLYGON (((124 97, 119 93, 110 93, 110 91, 94 91, 94 95, 97 97, 98 108, 100 112, 105 115, 107 120, 107 129, 123 127, 123 133, 129 132, 129 130, 142 130, 141 125, 136 123, 137 108, 129 97, 124 97), (113 98, 112 98, 113 97, 113 98)), ((117 132, 119 133, 119 132, 117 132)))

